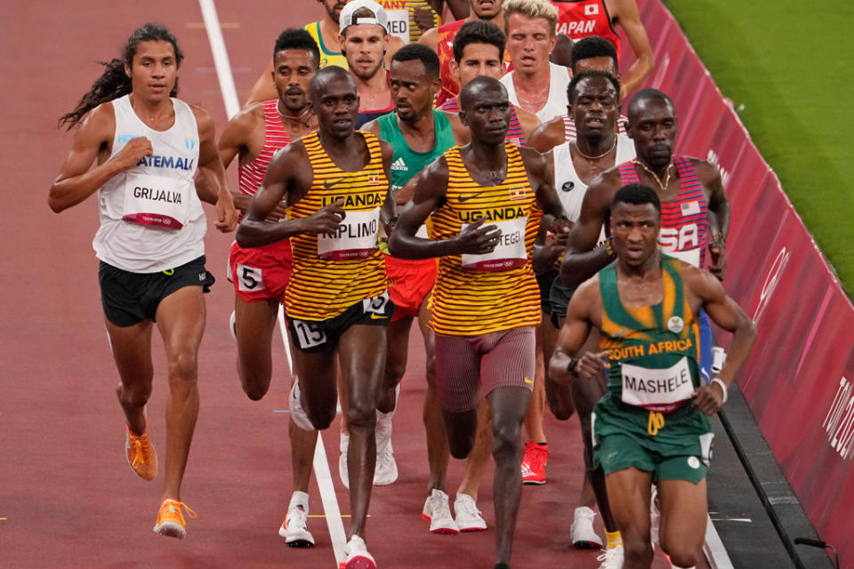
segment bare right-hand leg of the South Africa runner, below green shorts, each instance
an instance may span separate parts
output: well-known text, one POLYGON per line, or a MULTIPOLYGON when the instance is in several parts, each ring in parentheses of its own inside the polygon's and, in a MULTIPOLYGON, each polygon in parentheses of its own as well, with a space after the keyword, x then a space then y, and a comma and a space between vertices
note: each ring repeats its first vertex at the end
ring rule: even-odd
POLYGON ((688 480, 658 481, 661 505, 658 541, 673 565, 697 565, 705 540, 705 494, 705 478, 699 484, 688 480))

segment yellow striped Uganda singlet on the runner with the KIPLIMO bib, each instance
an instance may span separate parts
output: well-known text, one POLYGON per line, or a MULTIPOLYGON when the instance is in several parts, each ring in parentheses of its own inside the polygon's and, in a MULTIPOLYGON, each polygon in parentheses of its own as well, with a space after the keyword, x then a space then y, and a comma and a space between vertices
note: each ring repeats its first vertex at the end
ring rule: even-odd
MULTIPOLYGON (((365 140, 371 155, 359 172, 344 172, 336 166, 320 145, 317 131, 302 137, 314 173, 309 191, 289 208, 289 219, 309 217, 339 198, 344 199, 342 207, 348 213, 371 212, 383 205, 389 191, 389 180, 383 171, 380 142, 370 132, 357 131, 353 136, 365 140)), ((360 227, 367 224, 357 223, 357 218, 358 215, 348 215, 342 220, 340 229, 350 223, 351 230, 361 230, 360 227)), ((289 317, 327 320, 363 299, 382 294, 386 289, 383 253, 376 249, 375 241, 372 249, 363 255, 334 260, 318 256, 316 235, 293 236, 291 246, 294 248, 294 274, 285 293, 289 317)))

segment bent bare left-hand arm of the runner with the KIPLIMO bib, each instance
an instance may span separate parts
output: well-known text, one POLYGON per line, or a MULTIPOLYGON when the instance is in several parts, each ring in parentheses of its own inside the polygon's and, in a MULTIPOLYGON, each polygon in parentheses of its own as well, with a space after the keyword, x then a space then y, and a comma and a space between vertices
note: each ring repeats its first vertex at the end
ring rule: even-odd
POLYGON ((299 202, 309 191, 313 175, 302 140, 288 144, 273 156, 264 183, 255 193, 246 217, 238 226, 238 244, 241 247, 260 247, 301 233, 332 233, 337 229, 344 218, 342 200, 328 204, 306 218, 276 223, 266 221, 283 200, 290 205, 299 202))

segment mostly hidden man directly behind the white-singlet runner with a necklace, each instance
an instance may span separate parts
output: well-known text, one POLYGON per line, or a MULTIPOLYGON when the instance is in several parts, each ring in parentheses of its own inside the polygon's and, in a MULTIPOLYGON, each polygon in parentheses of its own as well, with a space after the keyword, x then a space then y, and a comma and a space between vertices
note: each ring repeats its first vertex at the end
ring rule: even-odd
MULTIPOLYGON (((589 36, 576 42, 572 48, 570 69, 574 76, 582 71, 604 71, 610 76, 620 78, 619 68, 616 65, 616 48, 614 44, 600 36, 589 36)), ((624 117, 620 117, 616 122, 617 132, 620 134, 625 134, 624 123, 624 117)), ((528 138, 528 146, 540 152, 548 152, 574 138, 576 138, 576 124, 568 113, 555 116, 552 120, 537 126, 536 131, 528 138)), ((560 186, 555 188, 560 189, 560 186)))

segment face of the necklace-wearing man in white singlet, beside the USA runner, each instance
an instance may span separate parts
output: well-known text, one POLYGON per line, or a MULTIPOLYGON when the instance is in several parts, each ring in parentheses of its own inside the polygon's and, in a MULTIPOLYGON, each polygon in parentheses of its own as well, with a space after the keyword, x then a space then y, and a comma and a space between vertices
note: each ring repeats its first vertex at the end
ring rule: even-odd
POLYGON ((587 77, 576 84, 569 102, 569 116, 576 122, 578 134, 600 139, 614 132, 620 114, 620 93, 607 77, 587 77))

